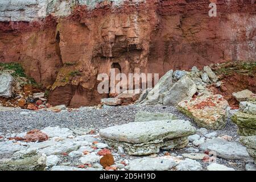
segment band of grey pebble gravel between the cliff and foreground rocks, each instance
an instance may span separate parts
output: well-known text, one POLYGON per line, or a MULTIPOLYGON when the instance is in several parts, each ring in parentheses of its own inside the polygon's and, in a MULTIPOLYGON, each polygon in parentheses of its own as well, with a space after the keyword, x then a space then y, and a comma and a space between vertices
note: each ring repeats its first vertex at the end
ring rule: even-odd
MULTIPOLYGON (((178 119, 191 121, 192 119, 180 113, 174 106, 163 105, 129 105, 96 109, 94 107, 81 107, 73 111, 64 110, 59 113, 51 111, 13 110, 0 111, 0 134, 21 133, 32 129, 42 130, 48 126, 67 127, 69 129, 98 130, 109 126, 122 125, 133 122, 138 111, 172 113, 178 119), (27 112, 28 114, 20 114, 27 112)), ((199 127, 197 127, 199 128, 199 127)), ((224 130, 217 131, 218 135, 236 137, 237 126, 228 121, 224 130)), ((208 132, 212 132, 208 130, 208 132)))

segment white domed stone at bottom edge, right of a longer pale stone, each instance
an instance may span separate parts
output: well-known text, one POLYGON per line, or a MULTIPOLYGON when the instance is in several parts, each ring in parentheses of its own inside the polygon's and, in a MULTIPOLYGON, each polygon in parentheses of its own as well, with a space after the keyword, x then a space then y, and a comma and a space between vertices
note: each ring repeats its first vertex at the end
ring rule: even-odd
POLYGON ((202 165, 196 160, 185 159, 176 166, 178 171, 202 171, 202 165))

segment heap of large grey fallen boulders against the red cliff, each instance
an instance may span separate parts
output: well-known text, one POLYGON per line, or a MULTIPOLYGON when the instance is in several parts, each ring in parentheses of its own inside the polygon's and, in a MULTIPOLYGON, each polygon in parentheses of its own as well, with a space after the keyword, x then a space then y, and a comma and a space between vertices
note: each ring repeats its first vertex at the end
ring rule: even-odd
POLYGON ((197 93, 209 94, 206 86, 217 80, 218 77, 210 67, 204 67, 203 71, 199 71, 196 67, 190 72, 171 70, 160 78, 154 88, 144 92, 138 103, 176 106, 181 101, 191 99, 197 93))

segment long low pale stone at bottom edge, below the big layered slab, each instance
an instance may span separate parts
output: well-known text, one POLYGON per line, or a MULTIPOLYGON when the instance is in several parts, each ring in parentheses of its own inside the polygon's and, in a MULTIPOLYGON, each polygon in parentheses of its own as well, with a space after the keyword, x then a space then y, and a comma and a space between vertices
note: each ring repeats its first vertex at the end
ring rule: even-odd
POLYGON ((131 160, 129 171, 167 171, 175 166, 174 160, 142 158, 131 160))

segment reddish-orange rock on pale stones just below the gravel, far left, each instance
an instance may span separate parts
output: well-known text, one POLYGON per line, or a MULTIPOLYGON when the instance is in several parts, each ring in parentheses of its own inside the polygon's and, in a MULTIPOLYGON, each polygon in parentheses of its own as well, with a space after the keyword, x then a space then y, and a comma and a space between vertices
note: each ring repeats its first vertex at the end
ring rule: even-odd
POLYGON ((28 131, 28 133, 24 137, 25 142, 44 142, 46 140, 48 140, 47 134, 37 129, 28 131))

